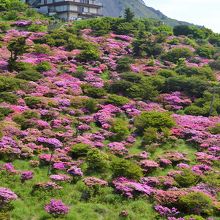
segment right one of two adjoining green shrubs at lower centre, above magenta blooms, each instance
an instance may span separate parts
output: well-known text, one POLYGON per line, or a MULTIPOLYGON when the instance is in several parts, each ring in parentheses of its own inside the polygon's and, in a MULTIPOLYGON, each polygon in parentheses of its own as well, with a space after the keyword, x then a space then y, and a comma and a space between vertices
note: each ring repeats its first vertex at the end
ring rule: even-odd
POLYGON ((141 167, 129 160, 114 158, 111 162, 111 169, 113 177, 123 176, 135 180, 139 180, 143 177, 141 167))

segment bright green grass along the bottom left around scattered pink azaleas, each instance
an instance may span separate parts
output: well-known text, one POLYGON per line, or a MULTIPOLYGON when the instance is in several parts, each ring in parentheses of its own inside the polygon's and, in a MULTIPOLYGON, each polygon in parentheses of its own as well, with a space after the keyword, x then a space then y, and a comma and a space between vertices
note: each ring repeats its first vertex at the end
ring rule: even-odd
POLYGON ((49 180, 47 167, 31 168, 25 160, 15 160, 13 165, 16 170, 33 170, 34 178, 21 183, 19 175, 0 174, 1 187, 10 188, 19 197, 13 202, 14 209, 10 213, 11 220, 54 219, 44 211, 45 204, 51 198, 62 199, 65 204, 71 207, 70 213, 64 218, 67 220, 121 219, 119 214, 123 210, 127 210, 129 213, 126 219, 155 219, 156 213, 147 198, 127 199, 116 194, 111 187, 102 188, 91 199, 83 200, 82 193, 87 188, 82 181, 78 181, 76 184, 63 183, 63 189, 58 191, 31 195, 34 184, 49 180))

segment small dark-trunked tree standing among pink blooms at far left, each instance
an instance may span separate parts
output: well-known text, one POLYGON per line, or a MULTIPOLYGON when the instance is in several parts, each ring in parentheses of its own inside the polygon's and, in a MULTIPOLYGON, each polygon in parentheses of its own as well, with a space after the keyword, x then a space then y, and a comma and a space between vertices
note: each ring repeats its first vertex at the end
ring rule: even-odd
POLYGON ((18 37, 8 44, 8 50, 11 53, 9 58, 9 70, 14 70, 16 61, 19 56, 27 52, 28 46, 26 45, 27 37, 18 37))

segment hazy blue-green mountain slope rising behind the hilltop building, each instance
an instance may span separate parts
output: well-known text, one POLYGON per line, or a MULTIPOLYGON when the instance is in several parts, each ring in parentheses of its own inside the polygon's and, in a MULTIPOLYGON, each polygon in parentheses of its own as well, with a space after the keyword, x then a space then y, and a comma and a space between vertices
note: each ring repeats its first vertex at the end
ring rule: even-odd
POLYGON ((186 22, 168 18, 166 15, 152 7, 147 7, 143 0, 100 0, 100 2, 102 2, 104 6, 104 16, 123 16, 124 9, 131 8, 137 17, 158 19, 171 26, 187 24, 186 22))

